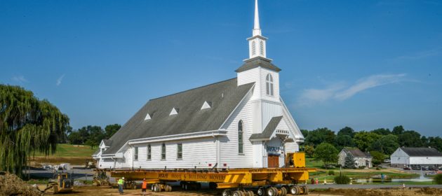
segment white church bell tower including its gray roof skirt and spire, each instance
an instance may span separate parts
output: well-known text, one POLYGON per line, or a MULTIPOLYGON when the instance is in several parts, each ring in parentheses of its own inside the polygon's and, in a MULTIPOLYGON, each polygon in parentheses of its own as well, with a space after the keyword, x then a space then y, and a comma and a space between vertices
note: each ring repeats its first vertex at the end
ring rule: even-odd
POLYGON ((255 0, 255 22, 252 37, 248 38, 249 58, 236 69, 238 85, 255 83, 250 102, 253 110, 253 133, 261 133, 269 121, 281 116, 279 98, 279 69, 267 58, 267 38, 262 36, 258 2, 255 0))

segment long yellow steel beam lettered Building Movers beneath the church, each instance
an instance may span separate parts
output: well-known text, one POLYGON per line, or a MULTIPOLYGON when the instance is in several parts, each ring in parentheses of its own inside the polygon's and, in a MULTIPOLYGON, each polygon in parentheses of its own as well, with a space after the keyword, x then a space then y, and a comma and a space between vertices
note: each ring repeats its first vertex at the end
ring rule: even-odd
POLYGON ((114 178, 124 177, 128 181, 146 179, 148 183, 159 183, 161 181, 211 182, 217 183, 217 188, 232 188, 280 183, 304 183, 309 179, 309 172, 316 172, 316 169, 293 167, 226 169, 222 171, 118 169, 111 171, 110 174, 114 178))

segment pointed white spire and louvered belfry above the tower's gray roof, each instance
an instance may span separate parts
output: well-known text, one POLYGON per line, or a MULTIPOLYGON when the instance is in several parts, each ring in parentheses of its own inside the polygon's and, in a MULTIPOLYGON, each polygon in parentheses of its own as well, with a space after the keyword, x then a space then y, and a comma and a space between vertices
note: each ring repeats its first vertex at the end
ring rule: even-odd
POLYGON ((255 24, 253 25, 252 37, 248 38, 248 50, 249 59, 254 57, 264 57, 266 58, 266 43, 267 38, 261 35, 260 27, 260 14, 258 12, 257 0, 255 0, 255 24))

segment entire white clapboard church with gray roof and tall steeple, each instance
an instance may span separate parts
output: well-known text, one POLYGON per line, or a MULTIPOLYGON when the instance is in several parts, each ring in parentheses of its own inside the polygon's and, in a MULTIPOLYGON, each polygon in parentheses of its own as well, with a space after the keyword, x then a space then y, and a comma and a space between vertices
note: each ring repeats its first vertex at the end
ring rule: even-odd
POLYGON ((93 155, 101 169, 284 167, 304 137, 279 94, 257 0, 236 78, 150 99, 93 155))

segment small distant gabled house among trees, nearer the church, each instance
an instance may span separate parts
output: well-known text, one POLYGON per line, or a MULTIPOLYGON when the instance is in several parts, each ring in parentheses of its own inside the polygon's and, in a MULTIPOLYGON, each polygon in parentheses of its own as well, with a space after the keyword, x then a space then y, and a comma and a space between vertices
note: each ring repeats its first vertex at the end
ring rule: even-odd
POLYGON ((359 148, 344 148, 342 151, 337 155, 337 163, 339 165, 344 166, 345 165, 345 158, 347 158, 347 153, 350 153, 353 155, 354 158, 354 167, 373 167, 372 160, 373 157, 370 155, 370 153, 364 153, 359 148))

